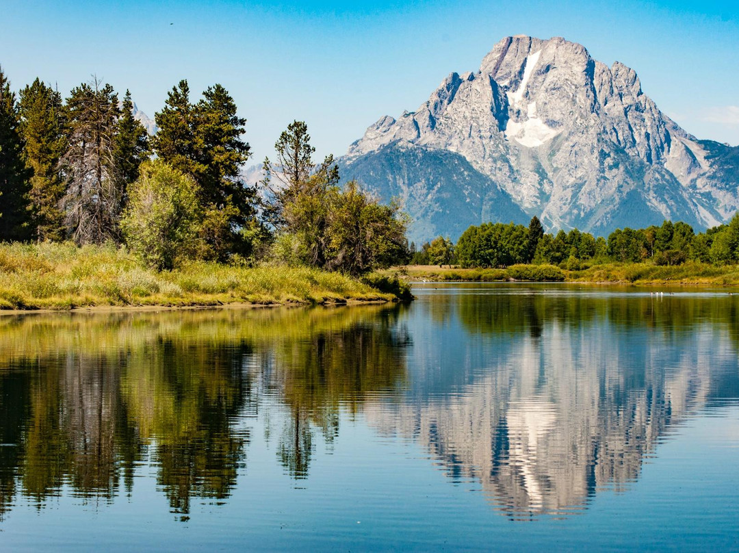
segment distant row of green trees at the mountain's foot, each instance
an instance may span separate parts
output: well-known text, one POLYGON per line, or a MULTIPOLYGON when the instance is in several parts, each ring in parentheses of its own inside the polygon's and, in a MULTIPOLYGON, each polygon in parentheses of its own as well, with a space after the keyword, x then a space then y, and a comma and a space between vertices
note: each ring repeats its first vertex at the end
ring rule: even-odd
POLYGON ((661 226, 619 228, 607 239, 576 228, 548 234, 539 219, 533 217, 528 228, 513 223, 473 225, 456 245, 437 237, 424 243, 419 251, 411 244, 411 251, 416 265, 457 264, 466 268, 532 263, 577 270, 595 262, 681 265, 688 260, 727 265, 739 262, 739 214, 728 225, 698 234, 686 223, 666 220, 661 226))

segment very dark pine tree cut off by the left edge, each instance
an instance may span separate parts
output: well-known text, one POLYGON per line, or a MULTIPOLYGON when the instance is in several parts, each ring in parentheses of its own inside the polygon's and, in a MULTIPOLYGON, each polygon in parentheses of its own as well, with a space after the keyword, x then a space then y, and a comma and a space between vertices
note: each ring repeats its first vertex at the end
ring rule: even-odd
POLYGON ((0 67, 0 240, 30 237, 29 179, 16 95, 0 67))

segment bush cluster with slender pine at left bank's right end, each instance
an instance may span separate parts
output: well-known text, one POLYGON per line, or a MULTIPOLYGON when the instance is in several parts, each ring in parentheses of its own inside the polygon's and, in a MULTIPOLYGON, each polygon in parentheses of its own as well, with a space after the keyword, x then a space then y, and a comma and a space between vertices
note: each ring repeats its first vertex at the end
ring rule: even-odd
POLYGON ((352 275, 405 260, 407 221, 398 206, 381 205, 356 183, 339 189, 332 156, 313 166, 305 123, 290 123, 275 149, 277 164, 265 160, 262 186, 277 259, 352 275))

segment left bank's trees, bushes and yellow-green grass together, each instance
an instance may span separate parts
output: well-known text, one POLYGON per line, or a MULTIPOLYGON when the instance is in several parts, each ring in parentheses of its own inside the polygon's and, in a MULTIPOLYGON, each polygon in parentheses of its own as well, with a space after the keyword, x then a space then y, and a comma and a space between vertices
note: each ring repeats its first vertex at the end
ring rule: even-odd
POLYGON ((220 84, 168 92, 148 135, 129 91, 64 99, 0 67, 0 310, 412 299, 409 219, 320 163, 293 121, 247 182, 246 119, 220 84))

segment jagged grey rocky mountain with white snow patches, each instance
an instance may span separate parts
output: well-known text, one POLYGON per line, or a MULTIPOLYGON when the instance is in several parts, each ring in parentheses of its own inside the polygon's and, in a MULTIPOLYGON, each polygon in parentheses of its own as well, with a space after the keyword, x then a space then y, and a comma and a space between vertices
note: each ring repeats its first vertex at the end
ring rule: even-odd
MULTIPOLYGON (((696 228, 729 219, 739 207, 739 178, 736 163, 726 160, 738 155, 725 150, 696 140, 660 112, 624 64, 607 67, 563 38, 515 36, 496 44, 478 72, 449 75, 415 112, 370 126, 341 166, 344 177, 384 197, 403 198, 414 189, 420 198, 427 190, 426 211, 445 211, 435 206, 435 175, 418 159, 454 152, 548 229, 607 234, 665 218, 696 228), (365 170, 389 149, 406 174, 402 183, 389 172, 365 170)), ((469 197, 474 187, 461 179, 458 197, 469 197)), ((500 201, 500 194, 491 199, 500 201)), ((429 224, 420 211, 409 211, 416 239, 456 238, 456 228, 486 220, 450 210, 449 220, 429 224)), ((483 201, 480 214, 486 211, 483 201)), ((500 220, 519 218, 511 212, 500 220)))

